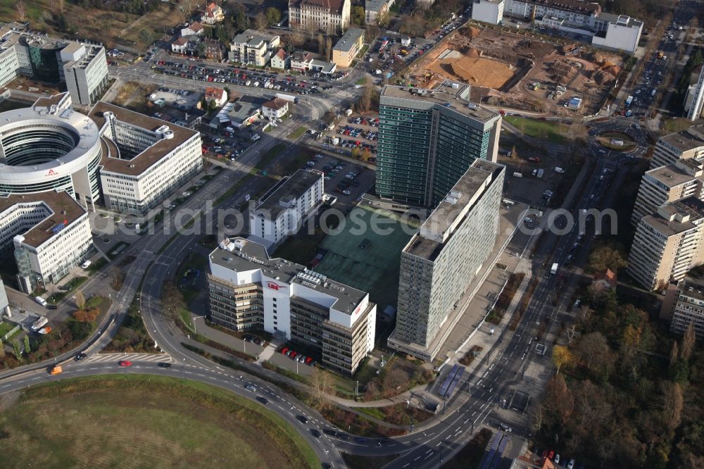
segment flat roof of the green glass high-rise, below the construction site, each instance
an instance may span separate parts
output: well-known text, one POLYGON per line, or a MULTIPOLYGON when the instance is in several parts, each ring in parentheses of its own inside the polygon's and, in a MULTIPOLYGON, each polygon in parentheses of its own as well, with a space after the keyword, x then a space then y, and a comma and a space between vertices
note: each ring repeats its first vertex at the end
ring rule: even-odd
MULTIPOLYGON (((469 101, 469 85, 460 85, 459 88, 446 87, 443 84, 435 89, 407 88, 395 85, 384 85, 381 98, 396 98, 410 101, 410 103, 426 102, 437 104, 453 111, 479 120, 482 123, 496 118, 499 114, 479 104, 469 101)), ((413 107, 413 106, 412 106, 413 107)))

